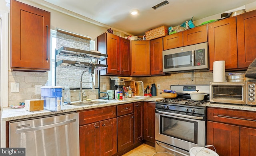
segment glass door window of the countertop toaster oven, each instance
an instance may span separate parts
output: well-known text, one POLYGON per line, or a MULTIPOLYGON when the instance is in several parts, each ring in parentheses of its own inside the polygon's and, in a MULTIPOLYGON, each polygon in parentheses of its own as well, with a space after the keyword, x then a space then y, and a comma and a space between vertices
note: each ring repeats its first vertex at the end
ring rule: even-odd
POLYGON ((243 86, 213 85, 213 99, 243 100, 243 86))

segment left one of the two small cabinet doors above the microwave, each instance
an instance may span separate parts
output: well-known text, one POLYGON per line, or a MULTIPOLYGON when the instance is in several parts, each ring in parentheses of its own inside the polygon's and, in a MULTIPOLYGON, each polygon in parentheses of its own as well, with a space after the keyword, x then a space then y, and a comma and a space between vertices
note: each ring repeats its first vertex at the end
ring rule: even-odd
POLYGON ((183 33, 178 32, 163 38, 164 50, 183 46, 183 33))

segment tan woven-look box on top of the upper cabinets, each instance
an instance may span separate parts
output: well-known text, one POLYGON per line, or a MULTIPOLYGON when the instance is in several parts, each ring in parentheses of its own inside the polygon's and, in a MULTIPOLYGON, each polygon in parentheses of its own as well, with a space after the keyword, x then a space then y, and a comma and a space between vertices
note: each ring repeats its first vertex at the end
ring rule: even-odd
POLYGON ((159 37, 163 37, 168 35, 168 27, 167 26, 161 26, 156 29, 152 29, 150 31, 147 31, 145 33, 146 40, 156 39, 159 37))

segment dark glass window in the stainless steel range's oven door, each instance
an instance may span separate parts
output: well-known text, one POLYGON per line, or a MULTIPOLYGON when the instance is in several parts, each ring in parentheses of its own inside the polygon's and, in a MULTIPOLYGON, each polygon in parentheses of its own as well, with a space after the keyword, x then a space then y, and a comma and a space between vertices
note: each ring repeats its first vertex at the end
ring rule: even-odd
POLYGON ((197 144, 198 122, 160 115, 160 134, 197 144))

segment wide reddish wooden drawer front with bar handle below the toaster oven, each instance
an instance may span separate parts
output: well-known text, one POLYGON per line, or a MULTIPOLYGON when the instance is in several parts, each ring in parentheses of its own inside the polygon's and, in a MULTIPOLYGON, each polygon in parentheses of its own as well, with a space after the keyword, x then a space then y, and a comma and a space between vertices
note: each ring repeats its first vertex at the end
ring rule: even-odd
POLYGON ((207 108, 207 120, 247 127, 256 127, 256 112, 207 108))

